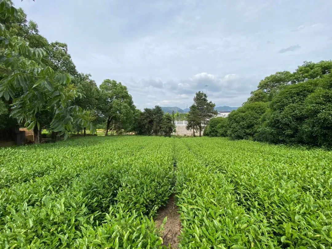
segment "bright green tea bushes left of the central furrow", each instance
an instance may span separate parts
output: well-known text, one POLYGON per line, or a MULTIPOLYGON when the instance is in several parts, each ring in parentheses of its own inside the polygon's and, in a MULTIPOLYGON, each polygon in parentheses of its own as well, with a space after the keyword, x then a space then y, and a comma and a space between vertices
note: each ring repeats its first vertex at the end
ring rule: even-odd
POLYGON ((91 136, 1 149, 0 244, 159 248, 152 215, 173 192, 171 142, 91 136))

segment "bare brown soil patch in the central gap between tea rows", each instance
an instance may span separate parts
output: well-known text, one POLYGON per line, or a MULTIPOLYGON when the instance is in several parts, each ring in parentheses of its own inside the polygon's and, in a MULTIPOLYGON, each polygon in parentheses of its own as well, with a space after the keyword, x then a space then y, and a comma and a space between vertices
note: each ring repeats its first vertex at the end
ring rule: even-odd
POLYGON ((172 194, 165 207, 158 209, 157 215, 154 218, 156 226, 159 228, 163 223, 164 218, 167 216, 164 230, 162 231, 163 245, 167 246, 170 244, 171 248, 179 248, 179 235, 181 233, 181 221, 180 214, 178 213, 178 207, 175 202, 175 194, 172 194))

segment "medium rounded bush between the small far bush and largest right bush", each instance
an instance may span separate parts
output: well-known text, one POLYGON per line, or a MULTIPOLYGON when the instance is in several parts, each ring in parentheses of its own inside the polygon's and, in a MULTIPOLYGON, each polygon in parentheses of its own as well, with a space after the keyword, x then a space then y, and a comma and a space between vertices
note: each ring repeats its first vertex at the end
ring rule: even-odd
POLYGON ((228 116, 228 134, 233 139, 259 139, 262 115, 268 110, 268 103, 244 104, 228 116))

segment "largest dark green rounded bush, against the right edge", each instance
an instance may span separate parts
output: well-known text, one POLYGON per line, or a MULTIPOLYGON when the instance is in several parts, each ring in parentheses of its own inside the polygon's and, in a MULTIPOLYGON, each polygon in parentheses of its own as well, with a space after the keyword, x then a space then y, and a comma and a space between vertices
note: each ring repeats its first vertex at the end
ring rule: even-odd
POLYGON ((271 101, 262 128, 273 143, 331 145, 332 75, 284 87, 271 101))

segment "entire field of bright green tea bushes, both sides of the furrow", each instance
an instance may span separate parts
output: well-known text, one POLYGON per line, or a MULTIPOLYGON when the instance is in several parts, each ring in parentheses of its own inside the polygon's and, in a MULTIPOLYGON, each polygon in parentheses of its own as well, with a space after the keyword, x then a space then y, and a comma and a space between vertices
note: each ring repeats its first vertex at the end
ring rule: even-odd
POLYGON ((332 152, 225 138, 82 137, 0 149, 0 248, 331 248, 332 152), (165 246, 163 246, 165 248, 165 246))

